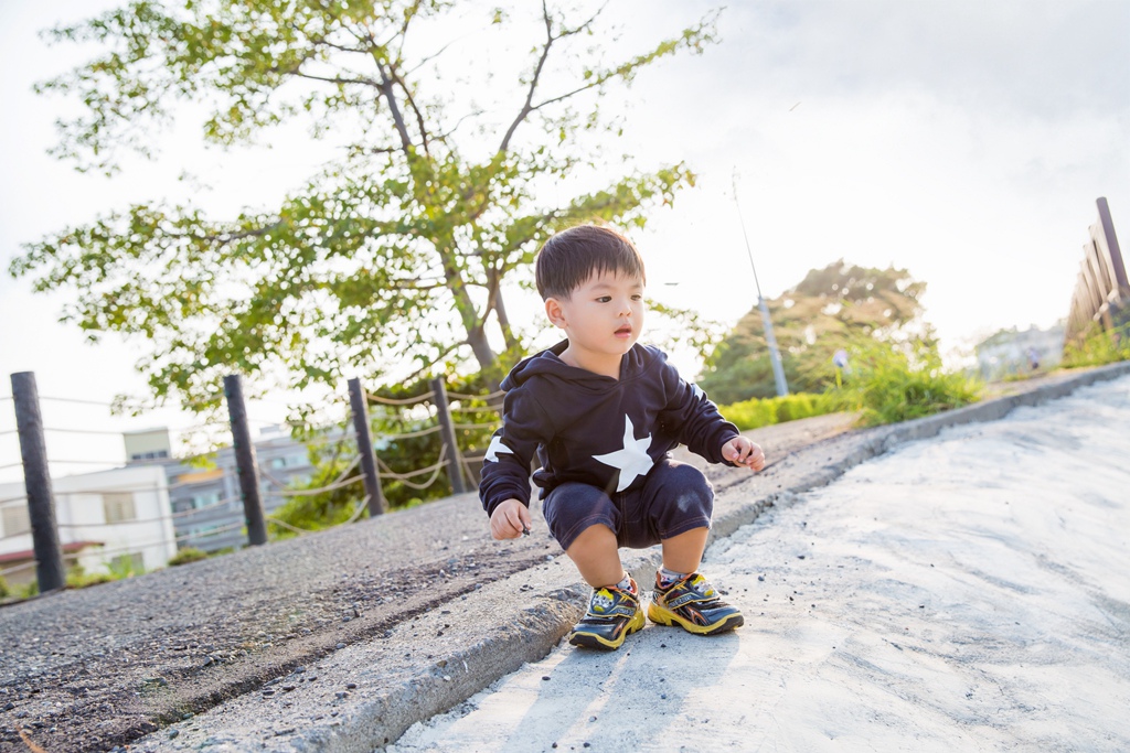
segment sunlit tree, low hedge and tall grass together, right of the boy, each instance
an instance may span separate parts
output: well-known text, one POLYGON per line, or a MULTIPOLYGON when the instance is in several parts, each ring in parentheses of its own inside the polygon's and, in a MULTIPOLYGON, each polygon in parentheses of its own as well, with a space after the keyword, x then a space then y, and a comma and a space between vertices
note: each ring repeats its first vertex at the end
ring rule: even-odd
POLYGON ((699 385, 741 429, 838 411, 894 423, 980 399, 975 379, 944 368, 922 319, 925 283, 906 270, 836 261, 767 303, 789 388, 775 395, 757 308, 706 353, 699 385), (845 368, 835 365, 838 351, 845 368))

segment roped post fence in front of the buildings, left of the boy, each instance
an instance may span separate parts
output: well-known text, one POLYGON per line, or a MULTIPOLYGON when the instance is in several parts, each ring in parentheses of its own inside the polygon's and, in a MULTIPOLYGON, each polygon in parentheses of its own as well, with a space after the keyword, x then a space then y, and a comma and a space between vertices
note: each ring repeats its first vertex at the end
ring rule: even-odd
MULTIPOLYGON (((34 380, 34 375, 31 376, 34 380)), ((0 498, 0 510, 3 511, 0 520, 0 558, 11 562, 8 567, 0 567, 0 578, 16 577, 26 580, 26 571, 32 568, 37 569, 37 575, 42 573, 40 564, 46 558, 55 558, 56 562, 68 567, 80 561, 90 562, 92 559, 101 559, 108 566, 111 558, 140 557, 147 550, 162 550, 164 560, 167 560, 169 552, 186 546, 218 551, 249 543, 262 544, 267 541, 268 523, 297 535, 324 529, 322 526, 308 527, 295 519, 287 519, 286 507, 303 499, 332 496, 340 500, 341 511, 350 510, 348 517, 337 525, 349 525, 366 510, 371 516, 383 513, 386 508, 385 490, 400 490, 398 493, 411 490, 442 496, 464 492, 477 485, 477 466, 483 462, 489 434, 497 426, 503 392, 449 393, 442 378, 434 379, 432 388, 421 394, 399 399, 366 395, 356 379, 350 380, 349 386, 351 395, 356 389, 362 397, 359 420, 356 410, 358 403, 354 402, 350 410, 354 418, 353 431, 345 429, 342 422, 337 422, 316 427, 313 431, 307 429, 304 432, 305 444, 288 440, 289 444, 264 445, 267 452, 301 448, 304 464, 284 462, 281 466, 268 470, 255 459, 255 455, 263 452, 258 447, 250 461, 241 457, 237 448, 218 448, 189 457, 127 463, 127 470, 134 465, 144 467, 156 464, 165 471, 159 481, 150 478, 153 485, 149 487, 138 487, 133 481, 115 482, 108 478, 99 483, 99 472, 88 476, 71 476, 66 483, 59 484, 62 490, 54 492, 50 485, 45 490, 32 488, 32 481, 40 475, 50 478, 46 472, 50 466, 102 465, 122 470, 122 465, 92 458, 58 459, 49 453, 47 457, 42 458, 43 473, 37 475, 34 469, 28 469, 26 461, 14 458, 16 462, 0 463, 0 470, 23 466, 25 471, 25 493, 18 493, 20 490, 15 489, 15 484, 7 484, 9 493, 0 498), (371 457, 366 462, 360 448, 373 446, 374 422, 365 410, 371 405, 381 406, 384 415, 375 422, 379 429, 375 432, 379 448, 370 453, 371 457), (453 414, 466 417, 466 420, 457 422, 452 419, 453 414), (421 462, 428 453, 434 461, 421 462), (315 461, 311 461, 313 454, 318 455, 315 461), (389 454, 389 458, 382 457, 383 454, 389 454), (395 470, 391 465, 394 458, 397 465, 401 466, 395 470), (313 482, 306 472, 316 470, 319 461, 327 473, 318 482, 313 482), (406 463, 410 463, 410 467, 402 467, 406 463), (438 487, 443 483, 444 474, 446 487, 438 487), (330 475, 334 478, 331 480, 330 475), (245 479, 253 481, 247 482, 245 479), (272 501, 270 515, 264 511, 261 492, 272 501), (97 520, 78 519, 90 518, 92 514, 87 507, 81 516, 77 516, 77 507, 98 506, 98 497, 105 515, 97 520), (111 516, 110 506, 114 498, 128 498, 130 513, 111 516), (40 551, 38 537, 32 535, 35 528, 32 522, 36 519, 36 506, 42 506, 44 499, 60 515, 60 519, 54 523, 55 546, 59 548, 58 541, 62 541, 62 549, 82 551, 40 551), (157 500, 156 504, 154 499, 157 500), (137 511, 133 511, 133 505, 137 505, 137 511), (20 515, 20 510, 25 509, 26 518, 20 515), (257 540, 257 518, 262 529, 261 540, 257 540)), ((32 394, 34 395, 34 389, 32 394)), ((240 400, 242 401, 242 393, 240 400)), ((59 420, 53 420, 50 426, 44 426, 42 420, 35 426, 25 426, 20 422, 20 415, 26 396, 18 392, 0 396, 0 403, 5 401, 15 403, 18 428, 0 431, 0 437, 19 435, 20 447, 28 432, 49 449, 52 444, 45 441, 44 437, 47 436, 104 438, 123 434, 108 429, 63 426, 66 421, 59 420)), ((38 401, 105 409, 112 406, 111 403, 77 397, 40 396, 38 401)), ((223 428, 232 437, 238 436, 241 427, 237 420, 242 420, 242 428, 245 430, 251 419, 242 408, 238 411, 234 409, 231 394, 228 402, 233 417, 229 423, 212 421, 182 431, 223 428), (242 414, 242 419, 237 419, 237 413, 242 414)), ((34 414, 38 415, 38 406, 35 408, 34 414)), ((260 439, 260 443, 263 441, 260 439)), ((233 446, 237 444, 233 443, 233 446)), ((0 446, 0 453, 3 452, 0 446)), ((0 454, 0 461, 7 459, 0 454)), ((278 456, 273 459, 278 459, 278 456)), ((5 484, 0 484, 0 490, 3 487, 5 484)), ((52 587, 60 586, 54 584, 47 589, 52 587)))

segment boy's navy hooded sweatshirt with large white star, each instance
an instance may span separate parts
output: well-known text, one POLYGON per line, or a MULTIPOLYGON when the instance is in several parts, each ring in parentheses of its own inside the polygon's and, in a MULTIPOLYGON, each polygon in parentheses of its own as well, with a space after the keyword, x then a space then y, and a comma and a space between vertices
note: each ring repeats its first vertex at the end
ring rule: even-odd
POLYGON ((643 487, 652 466, 680 443, 711 463, 727 463, 722 445, 738 436, 697 385, 667 354, 633 345, 620 378, 567 365, 563 340, 527 358, 503 380, 503 424, 483 462, 479 499, 487 515, 507 499, 530 504, 530 469, 545 498, 579 481, 609 496, 643 487))

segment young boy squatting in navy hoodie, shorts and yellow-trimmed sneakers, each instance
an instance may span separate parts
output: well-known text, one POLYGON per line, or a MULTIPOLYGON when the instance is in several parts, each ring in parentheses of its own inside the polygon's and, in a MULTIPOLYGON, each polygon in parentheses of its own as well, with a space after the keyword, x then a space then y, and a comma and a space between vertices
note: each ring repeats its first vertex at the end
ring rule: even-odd
POLYGON ((617 548, 662 544, 652 622, 712 636, 742 624, 697 572, 713 488, 671 459, 679 443, 712 463, 753 471, 762 449, 738 434, 658 348, 637 345, 644 265, 631 240, 598 226, 564 230, 541 247, 537 284, 566 340, 528 358, 503 382, 503 426, 490 440, 479 497, 495 539, 530 531, 530 467, 554 539, 592 586, 570 642, 617 649, 644 625, 640 587, 617 548))

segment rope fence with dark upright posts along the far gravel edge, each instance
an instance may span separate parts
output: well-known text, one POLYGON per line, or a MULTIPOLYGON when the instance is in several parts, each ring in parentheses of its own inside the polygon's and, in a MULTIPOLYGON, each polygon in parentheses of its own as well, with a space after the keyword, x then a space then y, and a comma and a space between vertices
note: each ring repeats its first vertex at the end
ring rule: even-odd
MULTIPOLYGON (((31 395, 33 400, 35 399, 34 391, 34 374, 24 373, 19 375, 21 378, 28 378, 32 385, 31 395)), ((40 412, 36 408, 34 411, 25 410, 28 405, 28 391, 26 387, 18 388, 16 384, 17 375, 12 375, 12 392, 10 396, 0 396, 0 402, 12 401, 16 409, 16 418, 18 427, 16 429, 6 429, 0 431, 0 437, 19 435, 20 441, 38 441, 40 447, 46 447, 43 444, 43 437, 45 435, 61 435, 61 436, 77 436, 77 437, 114 437, 121 436, 123 431, 112 431, 108 429, 87 429, 87 428, 75 428, 67 427, 64 422, 54 422, 51 426, 44 426, 42 419, 38 418, 40 412), (23 412, 21 412, 23 411, 23 412), (36 421, 34 426, 27 424, 27 415, 34 414, 36 421)), ((16 533, 10 531, 3 531, 0 528, 0 554, 8 551, 11 552, 10 545, 5 546, 5 542, 10 540, 17 540, 23 537, 26 542, 28 539, 34 539, 33 551, 28 551, 28 555, 32 558, 31 561, 9 567, 6 569, 0 569, 0 577, 7 577, 9 575, 15 575, 23 572, 28 568, 38 568, 37 579, 43 579, 44 572, 46 571, 41 567, 44 562, 56 562, 60 564, 63 562, 75 562, 80 557, 88 559, 92 553, 96 557, 102 558, 104 561, 111 555, 116 555, 120 553, 139 554, 142 550, 147 548, 153 548, 156 545, 169 546, 169 544, 176 548, 182 548, 185 544, 201 545, 206 549, 220 549, 225 545, 229 545, 231 535, 233 532, 241 532, 245 536, 244 542, 251 545, 259 545, 267 543, 266 526, 270 524, 272 526, 278 526, 282 531, 288 531, 295 534, 306 534, 311 533, 310 529, 302 527, 301 525, 295 525, 294 523, 282 519, 278 514, 267 515, 263 511, 263 498, 262 494, 266 493, 270 499, 275 501, 272 505, 279 507, 286 505, 289 500, 316 497, 319 494, 328 494, 332 492, 340 492, 345 494, 346 500, 351 500, 347 502, 353 506, 349 517, 336 525, 348 525, 355 523, 367 509, 371 516, 382 514, 388 504, 384 499, 384 492, 382 490, 382 484, 389 484, 390 493, 394 493, 397 499, 401 500, 402 504, 407 497, 405 497, 405 490, 407 488, 415 491, 425 491, 434 488, 437 483, 441 483, 441 476, 443 476, 446 471, 446 483, 450 484, 450 492, 462 493, 468 490, 466 482, 470 481, 471 485, 477 485, 478 483, 478 471, 476 465, 481 464, 484 455, 481 452, 485 449, 487 443, 487 436, 490 431, 496 428, 496 422, 484 422, 483 417, 489 415, 492 413, 497 414, 499 411, 499 399, 505 394, 502 391, 492 392, 489 394, 464 394, 464 393, 449 393, 446 392, 445 385, 442 378, 433 379, 432 388, 419 395, 412 397, 394 399, 394 397, 383 397, 380 395, 366 395, 364 389, 360 388, 359 382, 356 379, 350 380, 350 394, 353 395, 355 388, 360 394, 360 402, 353 402, 349 414, 353 417, 353 430, 348 428, 349 419, 346 419, 345 423, 338 421, 320 427, 302 427, 305 432, 305 452, 308 454, 318 448, 319 457, 324 458, 329 463, 329 469, 334 469, 332 473, 336 474, 332 481, 328 483, 324 479, 321 483, 315 487, 308 485, 308 475, 302 476, 302 481, 296 484, 295 479, 297 478, 294 472, 289 473, 278 473, 278 469, 288 467, 287 463, 273 466, 276 472, 272 473, 271 470, 261 467, 257 462, 253 453, 244 453, 241 455, 241 431, 244 432, 242 436, 249 439, 242 443, 245 447, 250 447, 253 443, 250 440, 250 434, 247 434, 247 424, 254 423, 270 423, 272 426, 289 427, 295 429, 294 424, 289 422, 278 422, 278 421, 258 421, 251 419, 246 414, 246 410, 243 406, 242 387, 238 387, 240 377, 225 377, 225 397, 228 402, 228 413, 231 415, 231 421, 227 423, 209 421, 206 423, 194 424, 188 429, 181 428, 176 431, 181 434, 188 434, 190 431, 203 431, 203 430, 227 430, 231 431, 233 441, 231 449, 217 448, 209 452, 198 453, 188 457, 175 457, 175 458, 164 458, 155 457, 144 461, 145 465, 153 466, 157 465, 164 469, 167 483, 157 484, 153 487, 136 487, 131 483, 123 484, 121 487, 115 487, 115 484, 106 485, 94 485, 94 488, 76 488, 73 482, 67 484, 67 491, 54 492, 50 485, 45 488, 33 488, 35 483, 38 483, 37 479, 50 479, 49 467, 50 465, 90 465, 90 466, 118 466, 122 467, 120 461, 95 461, 89 458, 81 459, 54 459, 49 456, 43 458, 32 457, 31 459, 25 459, 21 462, 0 464, 0 471, 24 467, 24 478, 26 493, 24 494, 9 494, 8 497, 0 499, 0 506, 5 507, 6 514, 3 524, 8 526, 11 525, 12 518, 7 514, 7 510, 11 508, 12 504, 26 502, 28 509, 28 517, 33 522, 32 526, 27 526, 26 522, 24 524, 18 524, 20 529, 16 533), (229 388, 229 380, 235 380, 234 384, 238 387, 235 389, 229 388), (467 404, 472 402, 472 404, 467 404), (494 403, 494 404, 492 404, 494 403), (373 420, 368 417, 367 406, 377 405, 386 408, 390 410, 379 411, 376 423, 377 428, 383 428, 382 430, 373 431, 373 420), (424 410, 426 409, 426 410, 424 410), (466 417, 466 419, 471 419, 467 422, 457 422, 452 419, 453 415, 466 417), (403 428, 403 430, 390 430, 390 427, 397 426, 403 428), (458 434, 457 434, 458 432, 458 434), (473 435, 471 432, 483 432, 481 436, 473 435), (339 436, 333 436, 339 435, 339 436), (431 439, 434 435, 440 435, 436 439, 431 439), (462 443, 470 443, 472 446, 467 448, 461 448, 457 441, 457 437, 462 437, 462 443), (383 448, 373 452, 373 439, 376 439, 376 447, 383 448), (408 439, 428 439, 425 445, 416 446, 403 446, 398 445, 398 443, 408 439), (392 457, 398 458, 394 464, 401 465, 405 456, 410 453, 419 453, 423 447, 432 447, 437 450, 437 455, 434 463, 423 467, 416 467, 410 471, 393 471, 389 464, 389 459, 392 457), (349 455, 345 454, 345 450, 349 449, 349 455), (362 452, 358 452, 362 450, 362 452), (464 452, 466 450, 466 452, 464 452), (383 454, 388 453, 389 458, 382 457, 383 454), (234 455, 234 457, 233 457, 234 455), (247 457, 250 456, 250 457, 247 457), (348 463, 345 458, 349 458, 348 463), (367 459, 366 459, 367 458, 367 459), (205 461, 201 463, 200 470, 194 472, 191 464, 205 461), (28 467, 27 463, 38 463, 40 467, 28 467), (342 469, 344 470, 337 470, 342 469), (34 472, 33 472, 34 471, 34 472), (281 478, 280 478, 281 476, 281 478), (364 489, 358 492, 354 491, 342 491, 350 490, 357 487, 358 483, 364 483, 364 489), (306 488, 303 488, 305 484, 306 488), (195 496, 186 497, 185 491, 192 491, 199 489, 200 491, 195 496), (218 492, 216 490, 219 490, 218 492), (399 490, 399 491, 398 491, 399 490), (105 516, 110 515, 111 504, 124 504, 124 502, 112 502, 107 499, 108 496, 113 494, 132 494, 130 505, 137 502, 136 494, 138 493, 156 493, 158 499, 164 500, 162 504, 168 506, 168 510, 162 510, 159 515, 154 515, 151 507, 147 511, 142 511, 142 517, 128 517, 122 519, 113 519, 108 522, 105 516), (234 492, 234 493, 233 493, 234 492), (72 499, 70 505, 82 505, 87 504, 82 500, 82 497, 92 496, 103 496, 103 505, 105 505, 105 516, 101 520, 93 520, 90 523, 78 523, 71 518, 70 507, 68 507, 68 514, 64 514, 63 522, 55 522, 55 551, 40 551, 41 542, 40 536, 31 536, 31 531, 35 528, 35 520, 38 519, 37 525, 43 525, 42 514, 41 517, 36 517, 36 510, 40 509, 38 506, 44 504, 46 499, 47 505, 54 505, 54 497, 69 497, 72 499), (356 494, 356 496, 355 496, 356 494), (216 501, 212 501, 216 500, 216 501), (176 509, 182 507, 184 504, 191 505, 190 509, 176 509), (240 515, 240 507, 242 506, 243 515, 240 515), (206 520, 203 525, 199 523, 193 523, 194 519, 206 520), (173 525, 173 539, 169 540, 167 536, 163 536, 156 541, 148 541, 147 543, 139 543, 136 541, 129 541, 131 535, 140 539, 147 539, 146 534, 139 529, 139 526, 154 526, 159 525, 165 522, 171 522, 173 525), (208 525, 214 524, 214 525, 208 525), (130 529, 136 529, 136 534, 130 534, 130 529), (82 532, 90 533, 82 533, 82 532), (105 541, 103 542, 84 542, 89 543, 92 548, 97 548, 96 552, 89 550, 82 552, 81 554, 75 552, 63 553, 61 546, 58 542, 59 532, 63 532, 64 541, 70 543, 77 543, 76 539, 81 539, 82 536, 90 537, 94 531, 105 531, 105 541), (219 543, 218 537, 224 537, 225 543, 219 543), (118 542, 127 543, 118 543, 118 542), (208 544, 207 542, 217 542, 208 544), (106 543, 113 543, 111 549, 106 549, 106 543)), ((99 408, 113 409, 114 404, 108 402, 84 400, 77 397, 61 397, 61 396, 38 396, 38 401, 43 402, 58 402, 67 404, 79 404, 79 405, 94 405, 99 408)), ((293 435, 301 436, 298 431, 293 431, 293 435)), ((214 434, 209 439, 210 443, 216 443, 217 437, 214 434)), ((103 443, 104 444, 104 443, 103 443)), ((278 448, 278 445, 270 445, 271 448, 278 448)), ((260 450, 262 452, 262 450, 260 450)), ((41 450, 42 454, 42 450, 41 450)), ((23 457, 27 458, 27 453, 21 453, 23 457)), ((63 453, 60 453, 63 455, 63 453)), ((63 457, 75 457, 77 453, 67 453, 63 457)), ((282 457, 277 455, 276 457, 282 457)), ((289 456, 288 456, 289 457, 289 456)), ((5 459, 0 457, 0 459, 5 459)), ((303 469, 308 467, 308 458, 306 461, 307 465, 301 466, 303 469)), ((131 465, 127 465, 131 467, 131 465)), ((296 466, 298 467, 298 466, 296 466)), ((325 466, 323 466, 325 467, 325 466)), ((308 473, 308 471, 303 471, 308 473)), ((81 476, 72 476, 81 478, 81 476)), ((90 475, 92 479, 99 478, 90 475)), ((108 481, 110 479, 105 479, 108 481)), ((15 491, 15 490, 12 490, 15 491)), ((442 496, 443 490, 440 491, 442 496)), ((434 496, 435 492, 429 492, 429 496, 434 496)), ((151 502, 150 502, 151 504, 151 502)), ((132 507, 128 508, 131 510, 132 507)), ((273 509, 273 508, 272 508, 273 509)), ((19 518, 15 518, 19 520, 19 518)), ((53 518, 52 518, 52 522, 53 518)), ((38 528, 35 528, 38 531, 38 528)), ((324 529, 324 528, 320 528, 324 529)), ((102 537, 96 536, 96 537, 102 537)), ((27 544, 25 544, 27 545, 27 544)), ((241 544, 236 543, 236 546, 241 544)), ((24 550, 19 550, 24 551, 24 550)), ((61 587, 58 583, 51 584, 40 584, 44 593, 54 590, 61 587)))

